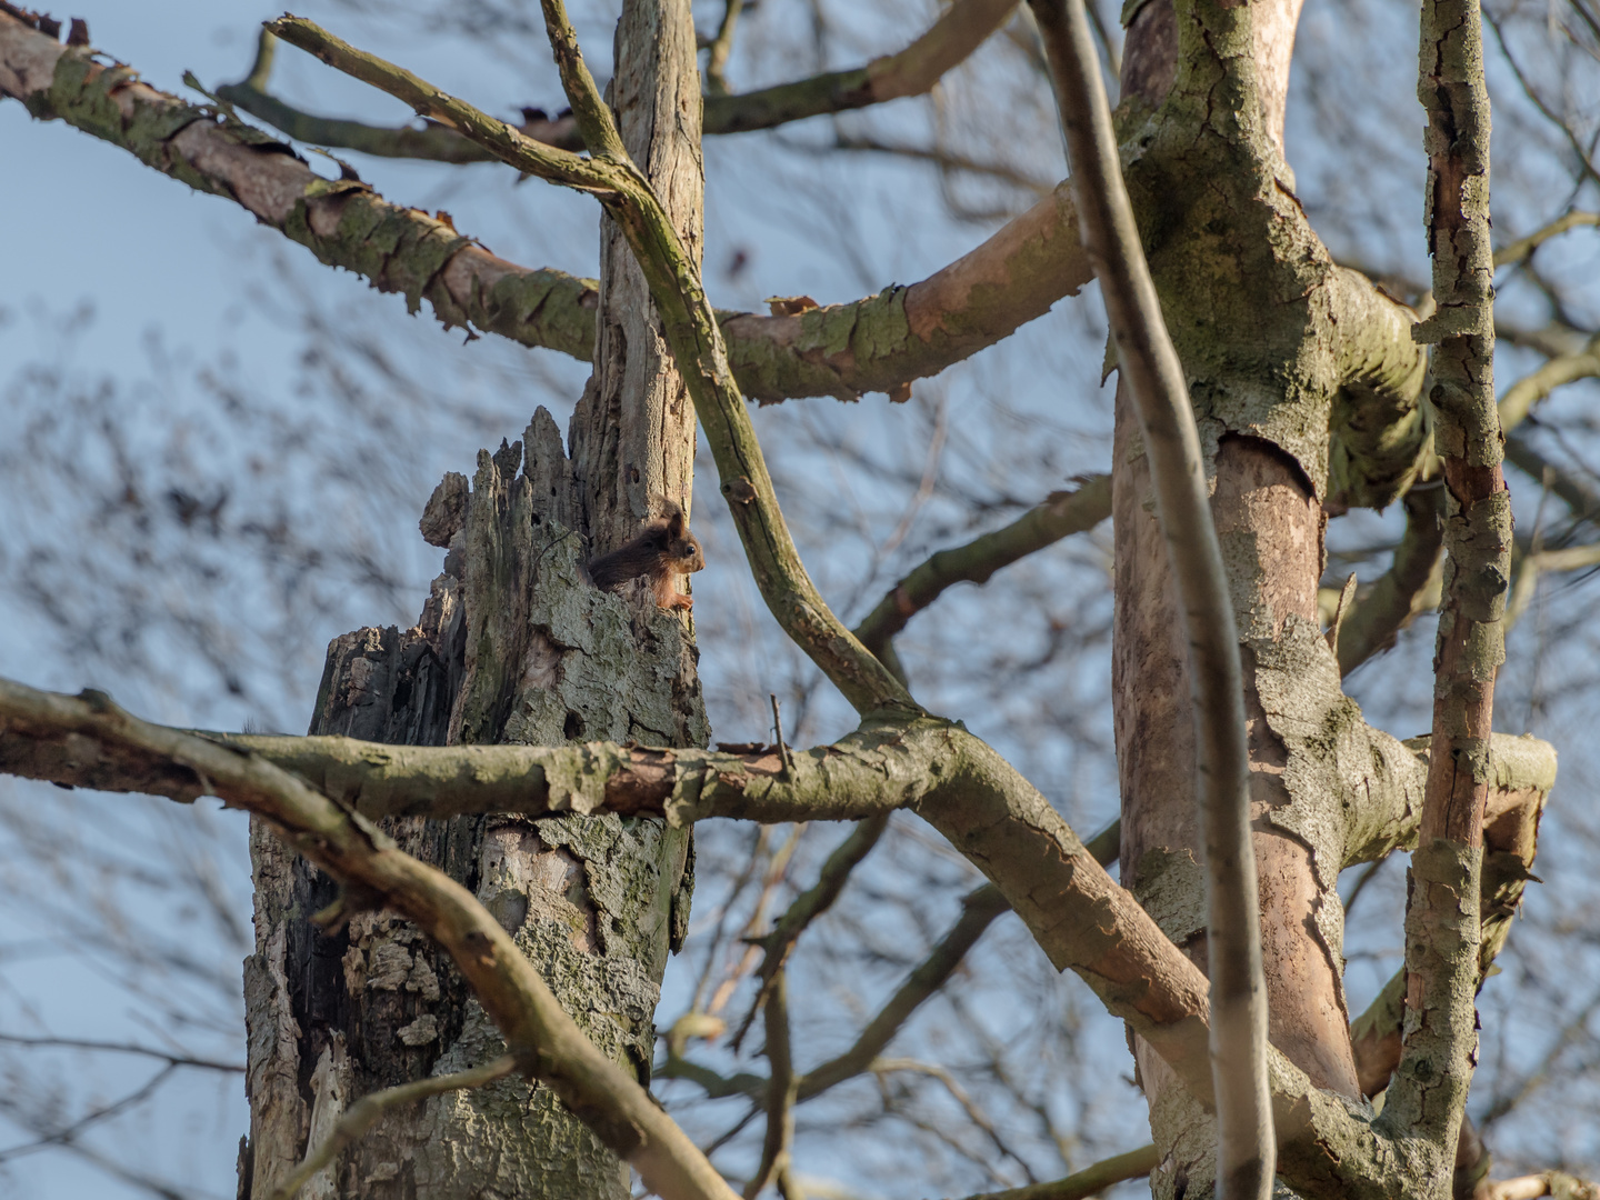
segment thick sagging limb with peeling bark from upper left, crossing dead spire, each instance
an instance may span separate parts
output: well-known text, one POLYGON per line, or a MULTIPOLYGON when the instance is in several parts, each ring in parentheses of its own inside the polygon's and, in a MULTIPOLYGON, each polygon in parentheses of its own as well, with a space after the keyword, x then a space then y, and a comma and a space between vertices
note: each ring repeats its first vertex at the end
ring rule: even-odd
MULTIPOLYGON (((106 67, 0 11, 0 96, 64 120, 190 187, 230 198, 330 266, 381 291, 424 299, 446 326, 472 325, 587 362, 595 283, 507 262, 442 221, 328 181, 259 130, 186 104, 131 75, 101 90, 106 67), (122 114, 104 120, 104 98, 122 114)), ((451 131, 451 136, 456 136, 451 131)), ((490 154, 490 150, 485 150, 490 154)), ((499 157, 499 155, 493 155, 499 157)), ((802 315, 717 314, 728 358, 752 400, 856 400, 936 374, 1077 294, 1090 278, 1066 187, 930 278, 802 315)))

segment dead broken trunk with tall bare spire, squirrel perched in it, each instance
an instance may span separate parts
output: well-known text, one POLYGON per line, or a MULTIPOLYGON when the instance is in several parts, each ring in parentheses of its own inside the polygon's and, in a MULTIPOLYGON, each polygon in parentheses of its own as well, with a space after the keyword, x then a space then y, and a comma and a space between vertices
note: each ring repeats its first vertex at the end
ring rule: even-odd
MULTIPOLYGON (((613 107, 686 245, 702 237, 699 74, 686 0, 626 0, 613 107)), ((602 235, 595 371, 571 458, 542 408, 520 443, 446 475, 422 533, 448 547, 418 627, 333 642, 312 733, 406 744, 704 746, 693 626, 646 589, 582 571, 664 501, 688 510, 694 413, 616 230, 602 235)), ((688 920, 686 830, 659 821, 490 816, 387 822, 517 938, 590 1038, 648 1080, 669 947, 688 920)), ((382 912, 318 928, 333 883, 253 827, 245 963, 251 1133, 240 1195, 264 1200, 358 1096, 499 1053, 443 955, 382 912), (344 922, 344 923, 341 923, 344 922)), ((306 1197, 624 1200, 627 1168, 544 1086, 502 1080, 387 1115, 306 1197)))

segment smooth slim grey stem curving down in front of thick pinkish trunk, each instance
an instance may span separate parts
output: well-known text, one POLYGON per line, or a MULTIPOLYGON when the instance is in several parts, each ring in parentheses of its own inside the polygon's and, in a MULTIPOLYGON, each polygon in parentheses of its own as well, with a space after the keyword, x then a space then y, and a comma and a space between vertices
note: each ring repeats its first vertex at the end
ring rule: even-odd
POLYGON ((1186 619, 1205 832, 1216 1182, 1229 1200, 1264 1198, 1272 1194, 1277 1147, 1267 1090, 1261 904, 1250 837, 1245 682, 1234 605, 1211 522, 1184 368, 1162 318, 1122 179, 1117 134, 1083 0, 1030 2, 1056 83, 1083 243, 1101 280, 1123 381, 1139 413, 1186 619))

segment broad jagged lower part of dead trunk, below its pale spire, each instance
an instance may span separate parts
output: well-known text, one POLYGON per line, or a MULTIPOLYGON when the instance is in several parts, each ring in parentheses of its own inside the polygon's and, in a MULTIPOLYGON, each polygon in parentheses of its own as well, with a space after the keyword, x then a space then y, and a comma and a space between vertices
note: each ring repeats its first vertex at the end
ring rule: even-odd
MULTIPOLYGON (((680 618, 586 582, 581 539, 563 520, 576 518, 576 483, 547 413, 526 438, 525 470, 512 445, 480 456, 470 493, 459 475, 440 485, 424 525, 451 550, 422 624, 336 638, 312 733, 413 744, 704 742, 680 618)), ((686 918, 686 830, 614 814, 384 826, 474 890, 590 1038, 648 1077, 659 979, 686 918)), ((336 934, 317 931, 307 915, 333 901, 334 886, 259 824, 253 845, 253 1195, 266 1195, 307 1134, 315 1141, 357 1096, 475 1066, 499 1053, 499 1040, 413 926, 362 915, 336 934)), ((502 1080, 387 1117, 322 1187, 565 1200, 626 1195, 627 1178, 554 1093, 502 1080)))

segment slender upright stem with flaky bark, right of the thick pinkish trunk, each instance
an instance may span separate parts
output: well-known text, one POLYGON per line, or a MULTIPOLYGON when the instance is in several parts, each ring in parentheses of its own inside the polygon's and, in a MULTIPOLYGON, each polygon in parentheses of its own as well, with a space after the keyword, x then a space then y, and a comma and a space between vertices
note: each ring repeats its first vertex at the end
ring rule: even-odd
MULTIPOLYGON (((1506 658, 1510 496, 1494 405, 1490 96, 1477 0, 1424 0, 1429 251, 1438 309, 1432 402, 1446 488, 1445 602, 1434 659, 1427 798, 1406 902, 1408 1034, 1381 1123, 1454 1160, 1477 1048, 1483 813, 1494 779, 1494 677, 1506 658), (1448 1149, 1448 1154, 1445 1154, 1448 1149)), ((1437 1186, 1448 1186, 1448 1174, 1437 1186)))

